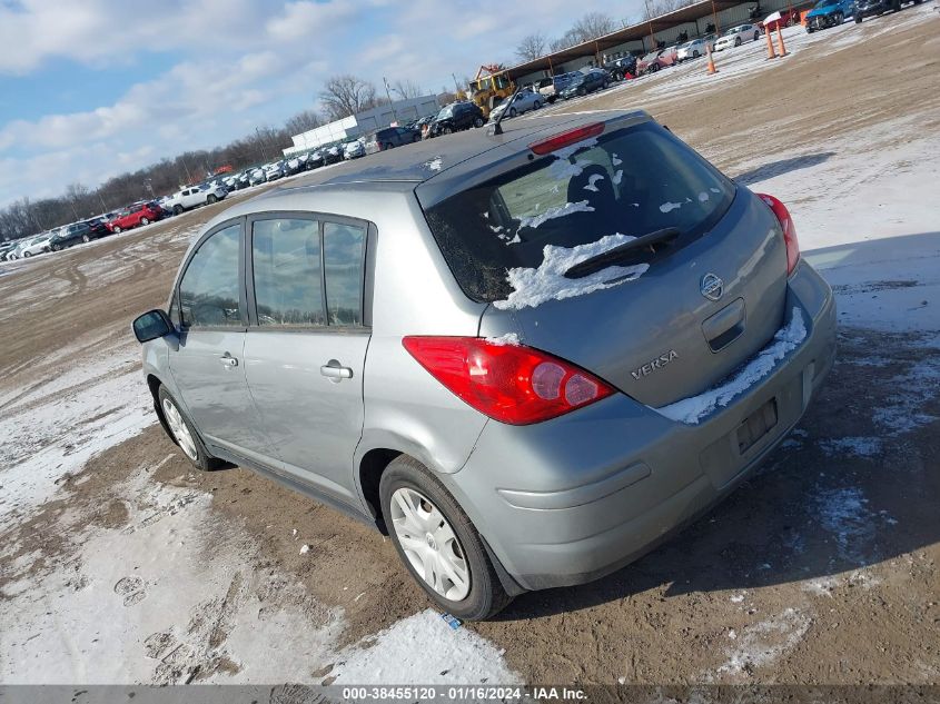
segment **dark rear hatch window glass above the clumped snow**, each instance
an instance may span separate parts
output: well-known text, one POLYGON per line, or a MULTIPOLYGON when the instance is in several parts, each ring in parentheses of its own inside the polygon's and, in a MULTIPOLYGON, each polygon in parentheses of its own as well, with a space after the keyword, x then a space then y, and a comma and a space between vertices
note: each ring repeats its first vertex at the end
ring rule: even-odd
POLYGON ((426 209, 464 292, 505 299, 513 268, 537 268, 546 245, 576 247, 608 235, 680 231, 674 248, 728 210, 733 184, 655 122, 538 157, 426 209))

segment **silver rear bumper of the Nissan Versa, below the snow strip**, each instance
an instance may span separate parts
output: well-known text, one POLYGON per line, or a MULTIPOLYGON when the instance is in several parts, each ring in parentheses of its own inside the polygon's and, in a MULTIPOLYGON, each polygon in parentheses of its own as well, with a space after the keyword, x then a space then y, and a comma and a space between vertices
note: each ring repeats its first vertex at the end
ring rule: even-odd
POLYGON ((441 478, 524 588, 608 574, 731 493, 800 420, 835 354, 832 291, 805 262, 790 281, 794 307, 803 341, 699 425, 624 395, 533 426, 491 420, 464 468, 441 478), (739 428, 771 400, 775 423, 739 452, 739 428))

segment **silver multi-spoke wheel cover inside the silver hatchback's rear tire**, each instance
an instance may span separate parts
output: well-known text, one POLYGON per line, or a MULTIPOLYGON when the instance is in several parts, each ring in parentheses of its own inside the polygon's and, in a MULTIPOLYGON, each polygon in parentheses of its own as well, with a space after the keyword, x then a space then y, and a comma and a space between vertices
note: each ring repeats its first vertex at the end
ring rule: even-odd
POLYGON ((402 487, 392 494, 392 526, 415 573, 452 602, 471 589, 464 548, 444 514, 419 492, 402 487))

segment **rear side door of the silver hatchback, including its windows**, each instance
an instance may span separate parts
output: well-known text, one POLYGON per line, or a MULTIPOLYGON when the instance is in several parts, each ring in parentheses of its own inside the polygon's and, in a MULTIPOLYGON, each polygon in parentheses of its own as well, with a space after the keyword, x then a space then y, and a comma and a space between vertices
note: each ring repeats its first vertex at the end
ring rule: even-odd
POLYGON ((283 472, 359 506, 368 226, 309 214, 249 220, 248 387, 283 472))

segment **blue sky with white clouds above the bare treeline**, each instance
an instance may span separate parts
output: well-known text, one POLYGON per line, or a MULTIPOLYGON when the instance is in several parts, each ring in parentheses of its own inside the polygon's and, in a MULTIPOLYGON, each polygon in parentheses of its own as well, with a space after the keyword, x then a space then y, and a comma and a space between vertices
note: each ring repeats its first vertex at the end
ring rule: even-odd
MULTIPOLYGON (((635 7, 634 7, 635 6, 635 7)), ((525 34, 642 0, 0 0, 0 208, 317 109, 324 82, 453 89, 525 34)))

